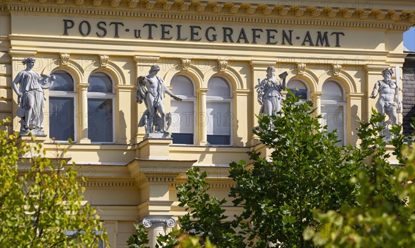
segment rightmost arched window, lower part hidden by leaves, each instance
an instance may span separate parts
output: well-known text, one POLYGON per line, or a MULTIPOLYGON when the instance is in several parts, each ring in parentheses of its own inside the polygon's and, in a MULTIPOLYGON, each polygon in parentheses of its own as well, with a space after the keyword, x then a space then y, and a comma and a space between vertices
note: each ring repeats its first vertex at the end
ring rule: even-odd
POLYGON ((324 82, 321 98, 322 124, 327 125, 329 131, 337 130, 340 145, 346 144, 345 104, 342 86, 334 81, 324 82))

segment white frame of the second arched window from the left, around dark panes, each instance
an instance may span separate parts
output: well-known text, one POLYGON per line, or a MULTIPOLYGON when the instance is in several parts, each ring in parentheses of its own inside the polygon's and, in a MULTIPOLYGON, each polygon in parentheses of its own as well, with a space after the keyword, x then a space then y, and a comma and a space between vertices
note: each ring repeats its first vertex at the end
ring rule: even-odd
MULTIPOLYGON (((117 128, 116 128, 116 93, 115 93, 116 84, 115 84, 115 81, 114 81, 111 74, 109 74, 107 72, 104 72, 104 71, 101 71, 101 70, 98 70, 98 71, 95 71, 95 72, 91 73, 91 75, 89 75, 89 77, 91 77, 95 73, 104 73, 105 75, 107 75, 111 79, 112 93, 90 92, 90 91, 86 90, 86 108, 88 108, 88 99, 90 99, 90 98, 92 98, 92 99, 112 99, 113 138, 112 138, 111 142, 93 142, 91 140, 91 143, 92 144, 114 144, 116 142, 116 130, 117 130, 117 128)), ((88 77, 88 80, 89 80, 89 77, 88 77)), ((89 83, 88 83, 88 85, 89 85, 89 83)), ((89 113, 87 113, 87 118, 89 118, 89 113)), ((89 123, 89 120, 88 120, 87 123, 89 123)))

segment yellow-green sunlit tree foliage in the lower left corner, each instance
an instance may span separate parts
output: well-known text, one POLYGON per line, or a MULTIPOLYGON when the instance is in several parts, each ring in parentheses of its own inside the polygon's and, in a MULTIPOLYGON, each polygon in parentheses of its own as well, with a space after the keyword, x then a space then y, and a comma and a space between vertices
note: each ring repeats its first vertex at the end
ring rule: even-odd
POLYGON ((0 131, 0 247, 98 247, 107 237, 95 210, 83 204, 84 178, 75 164, 50 161, 41 149, 0 131), (18 163, 29 166, 22 171, 18 163))

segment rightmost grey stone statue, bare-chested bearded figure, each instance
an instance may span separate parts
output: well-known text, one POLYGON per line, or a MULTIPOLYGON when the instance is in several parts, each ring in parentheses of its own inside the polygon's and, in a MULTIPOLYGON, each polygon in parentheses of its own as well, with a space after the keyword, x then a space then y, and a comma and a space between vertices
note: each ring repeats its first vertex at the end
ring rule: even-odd
POLYGON ((380 135, 385 135, 385 140, 392 138, 389 133, 389 124, 398 124, 398 113, 402 108, 402 102, 399 100, 398 85, 391 80, 393 71, 386 68, 382 71, 383 79, 375 83, 371 98, 376 98, 379 94, 376 109, 381 115, 387 115, 389 120, 381 122, 385 130, 380 135))

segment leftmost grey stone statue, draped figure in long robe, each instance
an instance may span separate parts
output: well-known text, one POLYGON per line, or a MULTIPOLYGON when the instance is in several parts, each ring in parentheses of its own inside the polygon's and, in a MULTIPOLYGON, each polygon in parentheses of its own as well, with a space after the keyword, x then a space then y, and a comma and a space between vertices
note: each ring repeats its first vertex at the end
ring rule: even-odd
POLYGON ((26 69, 17 73, 12 84, 13 90, 19 95, 17 102, 20 107, 17 116, 21 118, 21 135, 27 135, 29 132, 33 135, 44 135, 42 131, 46 101, 44 88, 52 86, 55 80, 55 76, 39 75, 33 71, 35 62, 33 58, 23 59, 22 63, 26 65, 26 69), (20 84, 19 88, 17 84, 20 84))

